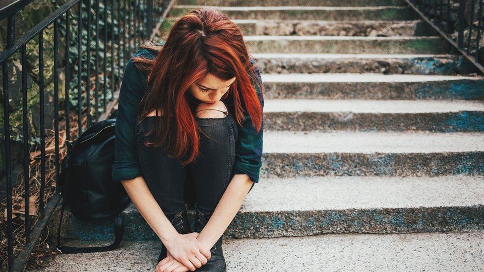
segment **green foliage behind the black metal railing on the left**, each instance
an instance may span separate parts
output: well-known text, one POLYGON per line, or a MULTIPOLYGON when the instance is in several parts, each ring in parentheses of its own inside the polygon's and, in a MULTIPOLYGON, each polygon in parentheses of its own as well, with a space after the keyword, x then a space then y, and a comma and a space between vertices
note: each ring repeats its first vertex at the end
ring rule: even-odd
MULTIPOLYGON (((22 23, 20 24, 22 28, 19 30, 21 33, 25 33, 29 31, 33 26, 38 24, 42 21, 45 17, 49 14, 54 12, 57 8, 59 8, 62 4, 65 3, 66 0, 38 0, 34 1, 28 5, 26 5, 22 10, 19 11, 17 20, 20 20, 22 23)), ((106 100, 109 102, 113 95, 113 91, 119 88, 119 82, 121 75, 118 74, 118 70, 122 72, 124 70, 123 62, 127 61, 131 52, 129 50, 133 50, 133 47, 125 46, 125 52, 122 52, 121 42, 122 40, 122 31, 124 30, 125 36, 124 40, 127 42, 129 39, 132 40, 132 45, 134 45, 134 37, 129 35, 129 30, 132 32, 141 34, 143 37, 146 37, 148 34, 151 34, 151 31, 147 31, 146 29, 146 16, 144 16, 144 12, 146 11, 145 3, 142 2, 137 6, 128 6, 124 11, 121 10, 121 14, 118 14, 118 6, 117 4, 119 1, 115 1, 114 10, 110 6, 111 1, 107 1, 108 5, 104 5, 104 1, 99 1, 99 10, 96 13, 96 1, 91 0, 91 20, 88 22, 88 12, 87 12, 87 0, 82 1, 82 12, 81 12, 81 22, 79 23, 78 20, 78 7, 79 5, 74 5, 69 10, 69 47, 67 54, 65 52, 65 37, 66 37, 66 19, 65 14, 61 16, 58 20, 58 31, 59 31, 59 109, 61 110, 60 115, 63 114, 65 109, 65 103, 68 103, 69 109, 77 109, 79 103, 81 103, 81 107, 84 109, 87 107, 87 80, 88 80, 88 70, 87 70, 87 61, 89 58, 90 63, 90 70, 89 70, 89 82, 91 87, 91 92, 89 96, 89 101, 91 105, 91 120, 94 120, 94 104, 95 104, 95 96, 94 91, 97 89, 98 94, 98 106, 99 111, 98 113, 103 113, 103 100, 104 100, 104 85, 106 85, 106 100), (104 10, 106 9, 106 16, 104 14, 104 10), (135 16, 135 12, 137 10, 138 14, 138 22, 136 25, 136 29, 134 28, 134 22, 130 25, 127 25, 129 19, 133 20, 135 16), (131 14, 129 14, 131 13, 131 14), (120 15, 120 16, 119 16, 120 15), (99 16, 98 22, 98 46, 96 46, 96 17, 99 16), (118 17, 121 18, 121 22, 118 21, 118 17), (126 23, 126 25, 124 25, 126 23), (106 26, 106 32, 105 32, 106 26), (80 32, 80 49, 81 49, 81 57, 78 57, 78 35, 80 32), (90 32, 90 42, 88 43, 88 31, 90 32), (107 44, 104 44, 104 37, 107 38, 107 44), (111 37, 114 37, 114 43, 111 42, 111 37), (111 54, 111 46, 113 46, 114 54, 111 54), (88 57, 87 50, 88 47, 90 49, 90 56, 88 57), (104 54, 104 48, 106 47, 106 56, 104 54), (96 50, 96 49, 99 50, 96 50), (67 60, 65 59, 67 55, 67 60), (99 84, 96 86, 96 55, 99 57, 99 84), (78 90, 78 62, 81 62, 80 67, 80 81, 81 81, 81 89, 78 90), (104 61, 106 61, 106 82, 104 82, 104 61), (68 63, 68 65, 65 65, 68 63), (111 70, 111 65, 114 67, 114 71, 111 70), (67 66, 67 67, 66 67, 67 66), (65 100, 65 69, 68 69, 69 74, 69 99, 65 100), (111 86, 111 78, 112 74, 114 75, 114 85, 111 86), (97 87, 97 88, 96 88, 97 87), (81 101, 78 102, 78 92, 81 93, 81 101)), ((122 3, 122 1, 121 1, 122 3)), ((156 10, 156 8, 155 8, 156 10)), ((54 97, 54 24, 48 25, 43 30, 43 38, 44 38, 44 92, 45 97, 50 98, 46 99, 46 103, 53 103, 54 97)), ((140 40, 138 40, 138 43, 140 40)), ((137 46, 137 45, 136 45, 137 46)), ((28 85, 28 119, 29 119, 29 131, 32 131, 32 144, 37 143, 39 141, 40 132, 38 128, 35 126, 35 122, 33 121, 33 112, 32 110, 38 110, 39 107, 39 84, 40 84, 40 68, 39 68, 39 37, 35 36, 31 41, 26 44, 26 52, 27 52, 27 71, 29 82, 30 79, 32 80, 32 84, 28 85)), ((14 54, 10 57, 10 62, 20 61, 19 60, 19 53, 14 54)), ((11 65, 11 63, 9 64, 11 65)), ((18 68, 20 69, 20 68, 18 68)), ((19 80, 18 75, 10 74, 10 82, 16 82, 19 80)), ((11 85, 11 84, 10 84, 11 85)), ((21 92, 21 90, 13 90, 10 88, 10 94, 12 92, 21 92)), ((21 98, 20 98, 21 101, 21 98)), ((51 105, 52 109, 54 108, 51 105)), ((11 137, 15 140, 22 139, 22 105, 21 103, 16 103, 16 105, 11 105, 13 110, 10 111, 10 125, 11 125, 11 137)), ((35 114, 38 116, 38 113, 35 114)), ((0 116, 0 125, 3 126, 3 115, 0 116)), ((46 124, 48 125, 48 124, 46 124)))

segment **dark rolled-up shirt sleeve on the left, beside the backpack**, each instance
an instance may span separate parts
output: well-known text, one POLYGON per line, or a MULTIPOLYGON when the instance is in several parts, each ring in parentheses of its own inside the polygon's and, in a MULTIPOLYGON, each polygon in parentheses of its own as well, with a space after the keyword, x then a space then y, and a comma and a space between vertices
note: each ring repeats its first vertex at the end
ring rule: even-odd
POLYGON ((129 180, 142 175, 135 143, 136 115, 144 93, 146 76, 139 71, 132 57, 127 61, 121 82, 115 125, 115 162, 111 173, 114 181, 129 180))

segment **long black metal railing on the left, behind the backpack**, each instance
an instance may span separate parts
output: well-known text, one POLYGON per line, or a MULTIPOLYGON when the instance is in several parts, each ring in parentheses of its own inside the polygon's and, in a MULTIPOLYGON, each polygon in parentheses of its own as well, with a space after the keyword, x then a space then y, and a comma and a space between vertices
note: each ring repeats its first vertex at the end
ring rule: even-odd
MULTIPOLYGON (((173 3, 173 0, 102 0, 102 2, 100 0, 64 0, 61 4, 59 1, 52 1, 55 5, 52 8, 55 9, 54 12, 30 26, 24 33, 17 33, 16 18, 33 1, 0 1, 0 22, 6 20, 5 44, 0 52, 3 94, 1 138, 4 139, 2 158, 6 180, 5 192, 1 200, 6 200, 4 206, 8 271, 23 270, 35 243, 39 240, 49 217, 60 201, 57 183, 61 155, 65 151, 60 140, 70 141, 71 137, 74 138, 76 134, 81 135, 95 121, 109 116, 119 97, 121 72, 124 70, 126 61, 141 42, 154 37, 156 32, 153 30, 160 25, 160 19, 166 16, 166 12, 173 3), (46 39, 48 34, 52 36, 46 39), (34 58, 32 58, 33 55, 34 58), (52 57, 49 58, 49 56, 52 57), (34 63, 32 59, 38 63, 34 63), (15 70, 13 61, 19 61, 21 64, 21 68, 18 67, 21 69, 20 90, 15 88, 18 82, 11 72, 12 69, 15 70), (48 66, 47 61, 53 64, 48 66), (52 71, 51 78, 46 78, 46 71, 52 71), (28 84, 29 78, 34 79, 35 88, 38 86, 38 92, 34 90, 34 93, 38 94, 35 109, 29 105, 32 103, 32 98, 29 97, 29 94, 32 94, 28 84), (63 100, 60 93, 61 85, 64 85, 63 100), (21 92, 21 106, 11 105, 9 99, 13 97, 11 95, 18 97, 17 92, 21 92), (15 109, 18 109, 18 114, 15 114, 15 109), (21 121, 17 122, 15 118, 20 114, 21 121), (37 142, 32 141, 29 135, 29 128, 33 131, 29 124, 34 115, 38 117, 34 121, 38 122, 40 132, 37 142), (53 116, 52 127, 46 127, 46 116, 53 116), (77 131, 71 131, 71 121, 76 124, 72 127, 77 131), (16 125, 22 126, 22 133, 18 133, 19 135, 13 132, 16 125), (52 131, 54 139, 49 154, 46 154, 46 130, 52 131), (60 133, 65 136, 60 137, 60 133), (12 138, 15 137, 21 138, 23 142, 21 156, 23 157, 21 159, 23 182, 18 184, 16 181, 12 183, 11 168, 12 145, 15 143, 15 139, 12 138), (31 163, 29 156, 32 155, 30 149, 34 146, 40 149, 38 154, 40 158, 39 156, 36 158, 40 159, 41 172, 40 178, 37 179, 40 183, 37 206, 39 215, 35 223, 31 221, 32 211, 29 210, 30 188, 33 183, 29 170, 29 163, 31 163), (49 169, 46 169, 46 166, 49 169), (47 170, 52 170, 51 178, 47 177, 47 170), (52 185, 54 192, 49 199, 45 200, 48 184, 52 185), (17 186, 23 186, 22 203, 25 208, 24 216, 16 217, 22 218, 23 225, 16 221, 15 229, 24 229, 25 243, 18 246, 14 252, 12 205, 16 203, 12 200, 12 190, 17 186), (33 228, 31 224, 35 224, 33 228)), ((5 264, 3 265, 5 267, 5 264)))

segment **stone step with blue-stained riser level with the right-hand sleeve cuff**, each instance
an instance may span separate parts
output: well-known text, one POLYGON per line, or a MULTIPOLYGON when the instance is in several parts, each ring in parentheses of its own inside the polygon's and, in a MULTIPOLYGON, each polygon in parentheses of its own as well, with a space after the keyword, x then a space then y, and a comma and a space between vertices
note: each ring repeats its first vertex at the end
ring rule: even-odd
POLYGON ((482 132, 266 131, 262 177, 484 174, 482 132))

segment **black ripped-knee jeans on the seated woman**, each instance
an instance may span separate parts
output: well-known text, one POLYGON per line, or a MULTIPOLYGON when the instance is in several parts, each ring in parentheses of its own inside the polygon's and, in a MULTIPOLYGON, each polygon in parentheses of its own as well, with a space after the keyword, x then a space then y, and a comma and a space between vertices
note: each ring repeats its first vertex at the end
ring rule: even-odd
MULTIPOLYGON (((163 149, 147 148, 145 133, 163 116, 148 116, 136 130, 139 163, 144 179, 165 215, 175 214, 183 205, 183 184, 187 170, 195 186, 195 207, 213 213, 234 176, 235 149, 238 142, 237 123, 231 113, 223 118, 196 117, 201 131, 200 154, 185 166, 169 158, 163 149)), ((152 135, 150 135, 152 136, 152 135)))

